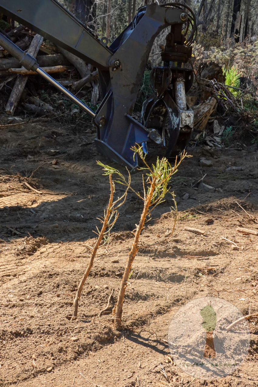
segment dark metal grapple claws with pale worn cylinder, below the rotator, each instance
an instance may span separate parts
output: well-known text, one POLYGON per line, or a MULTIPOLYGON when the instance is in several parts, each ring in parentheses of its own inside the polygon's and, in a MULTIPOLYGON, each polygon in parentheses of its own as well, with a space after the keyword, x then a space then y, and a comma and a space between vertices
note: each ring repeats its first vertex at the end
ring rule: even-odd
POLYGON ((142 106, 141 122, 161 135, 167 158, 183 152, 193 130, 193 110, 186 103, 186 86, 191 84, 193 75, 190 70, 179 71, 154 68, 151 80, 155 94, 142 106))

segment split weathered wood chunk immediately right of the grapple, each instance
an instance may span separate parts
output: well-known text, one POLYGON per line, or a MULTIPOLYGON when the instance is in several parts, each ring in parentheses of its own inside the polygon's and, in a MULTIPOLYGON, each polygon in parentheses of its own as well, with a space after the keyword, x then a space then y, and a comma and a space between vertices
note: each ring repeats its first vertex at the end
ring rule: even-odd
POLYGON ((217 108, 217 101, 214 97, 210 97, 207 101, 193 106, 194 119, 193 125, 195 129, 202 131, 205 129, 208 119, 217 108))

